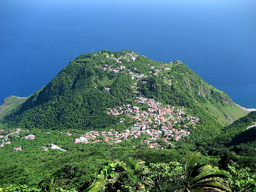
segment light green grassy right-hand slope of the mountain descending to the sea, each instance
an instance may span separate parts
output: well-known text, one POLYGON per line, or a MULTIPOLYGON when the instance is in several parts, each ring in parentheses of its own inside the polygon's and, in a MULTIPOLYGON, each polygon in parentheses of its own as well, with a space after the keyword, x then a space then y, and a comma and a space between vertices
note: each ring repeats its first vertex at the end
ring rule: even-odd
POLYGON ((173 76, 173 86, 193 97, 196 104, 206 109, 222 126, 231 124, 249 113, 249 110, 235 104, 226 93, 206 83, 185 64, 176 63, 178 62, 167 64, 165 70, 159 73, 160 76, 173 76))

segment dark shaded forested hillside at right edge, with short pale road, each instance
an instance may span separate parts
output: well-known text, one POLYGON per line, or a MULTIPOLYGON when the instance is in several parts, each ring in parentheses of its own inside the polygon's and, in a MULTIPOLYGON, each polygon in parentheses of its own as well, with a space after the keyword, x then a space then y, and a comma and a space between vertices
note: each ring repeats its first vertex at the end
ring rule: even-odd
POLYGON ((222 156, 223 163, 237 163, 256 171, 256 111, 252 111, 233 124, 224 127, 221 133, 202 141, 199 149, 204 154, 222 156))

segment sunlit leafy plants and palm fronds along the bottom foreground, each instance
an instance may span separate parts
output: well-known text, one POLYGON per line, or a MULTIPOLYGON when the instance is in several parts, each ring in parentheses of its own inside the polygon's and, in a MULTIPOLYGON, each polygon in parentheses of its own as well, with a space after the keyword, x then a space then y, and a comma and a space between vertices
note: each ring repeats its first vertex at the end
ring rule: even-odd
MULTIPOLYGON (((95 180, 83 192, 189 192, 189 191, 256 191, 256 174, 250 169, 238 170, 228 165, 228 170, 220 170, 211 165, 199 164, 200 153, 189 154, 185 164, 166 162, 145 165, 145 162, 129 157, 128 163, 120 160, 108 161, 98 172, 95 180)), ((45 176, 42 188, 26 185, 4 185, 0 191, 22 192, 76 192, 68 189, 67 167, 61 167, 45 176)))

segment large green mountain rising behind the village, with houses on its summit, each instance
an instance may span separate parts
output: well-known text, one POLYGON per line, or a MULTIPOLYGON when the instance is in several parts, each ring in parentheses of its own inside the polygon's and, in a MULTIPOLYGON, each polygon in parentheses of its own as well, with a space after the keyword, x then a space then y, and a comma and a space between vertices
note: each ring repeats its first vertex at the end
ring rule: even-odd
MULTIPOLYGON (((131 50, 103 50, 72 60, 10 114, 2 114, 2 123, 10 128, 103 130, 120 127, 122 117, 127 119, 122 129, 129 128, 134 120, 106 111, 134 105, 139 96, 183 106, 186 114, 200 119, 196 126, 188 126, 193 141, 216 135, 224 125, 248 113, 180 61, 163 63, 131 50)), ((143 106, 147 110, 148 105, 143 106)))

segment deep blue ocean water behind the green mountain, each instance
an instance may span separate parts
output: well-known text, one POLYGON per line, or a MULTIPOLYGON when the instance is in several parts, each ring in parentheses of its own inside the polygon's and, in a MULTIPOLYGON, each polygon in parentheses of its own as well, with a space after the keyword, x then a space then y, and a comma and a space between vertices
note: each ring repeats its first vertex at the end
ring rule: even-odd
POLYGON ((256 108, 255 0, 2 0, 0 45, 0 100, 36 92, 80 54, 131 49, 181 60, 256 108))

